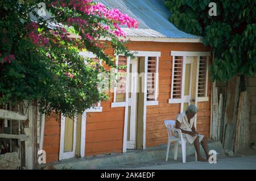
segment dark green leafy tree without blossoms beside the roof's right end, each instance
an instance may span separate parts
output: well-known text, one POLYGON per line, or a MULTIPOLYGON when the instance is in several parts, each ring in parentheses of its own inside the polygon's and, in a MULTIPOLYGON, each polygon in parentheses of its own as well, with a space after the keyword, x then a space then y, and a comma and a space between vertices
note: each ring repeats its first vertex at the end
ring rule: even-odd
POLYGON ((204 45, 212 48, 212 81, 256 73, 256 1, 170 0, 165 5, 177 28, 203 36, 204 45), (209 15, 210 2, 216 3, 216 16, 209 15))

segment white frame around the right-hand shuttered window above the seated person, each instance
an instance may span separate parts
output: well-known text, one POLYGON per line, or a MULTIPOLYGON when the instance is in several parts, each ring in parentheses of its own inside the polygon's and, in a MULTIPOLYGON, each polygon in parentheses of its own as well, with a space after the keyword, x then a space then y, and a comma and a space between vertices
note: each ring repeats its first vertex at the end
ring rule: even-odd
MULTIPOLYGON (((171 95, 170 99, 168 100, 168 103, 181 103, 183 99, 183 87, 184 87, 184 76, 185 76, 185 64, 186 64, 186 58, 187 56, 196 56, 197 61, 199 62, 201 56, 206 56, 207 57, 207 72, 206 72, 206 78, 205 78, 205 96, 204 97, 198 97, 198 90, 197 90, 197 85, 198 85, 198 76, 196 77, 196 98, 197 102, 208 102, 209 101, 209 96, 208 95, 208 65, 209 65, 209 56, 210 52, 186 52, 186 51, 171 51, 171 56, 172 56, 172 81, 171 81, 171 95), (183 57, 183 72, 182 72, 182 83, 181 83, 181 98, 180 99, 173 99, 172 98, 172 87, 174 85, 174 62, 175 62, 175 56, 181 56, 183 57)), ((197 75, 199 71, 199 65, 197 66, 197 75)))

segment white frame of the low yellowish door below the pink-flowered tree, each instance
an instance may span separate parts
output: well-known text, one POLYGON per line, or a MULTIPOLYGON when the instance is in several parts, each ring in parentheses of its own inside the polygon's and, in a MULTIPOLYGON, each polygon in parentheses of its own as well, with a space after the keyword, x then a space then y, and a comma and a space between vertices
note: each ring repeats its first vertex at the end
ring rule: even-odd
POLYGON ((69 152, 64 152, 64 138, 65 138, 65 116, 61 115, 61 123, 60 123, 60 154, 59 160, 68 159, 75 157, 76 153, 76 124, 77 117, 74 117, 74 127, 73 127, 73 149, 69 152))

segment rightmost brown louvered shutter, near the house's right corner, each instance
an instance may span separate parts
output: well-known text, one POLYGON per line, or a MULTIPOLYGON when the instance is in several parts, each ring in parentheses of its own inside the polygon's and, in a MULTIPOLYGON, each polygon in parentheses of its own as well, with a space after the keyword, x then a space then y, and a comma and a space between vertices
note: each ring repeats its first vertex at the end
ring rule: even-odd
POLYGON ((199 60, 199 80, 198 80, 198 97, 204 97, 206 90, 206 74, 207 74, 207 57, 200 56, 199 60))

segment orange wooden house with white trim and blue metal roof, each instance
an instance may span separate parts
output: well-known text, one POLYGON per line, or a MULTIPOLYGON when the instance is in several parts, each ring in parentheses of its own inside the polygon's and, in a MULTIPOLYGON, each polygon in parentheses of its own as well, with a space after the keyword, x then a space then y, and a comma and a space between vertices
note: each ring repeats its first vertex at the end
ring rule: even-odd
MULTIPOLYGON (((174 120, 189 104, 198 132, 210 135, 210 86, 208 65, 212 54, 198 36, 178 30, 168 20, 163 0, 97 0, 110 9, 119 9, 139 22, 138 29, 123 27, 127 48, 134 58, 114 54, 115 72, 133 73, 122 86, 109 92, 109 100, 94 105, 74 119, 61 116, 58 123, 46 116, 40 145, 47 163, 73 157, 122 153, 166 144, 164 120, 174 120), (138 74, 135 75, 135 74, 138 74), (139 90, 139 91, 129 91, 139 90)), ((90 52, 81 56, 97 58, 90 52)))

